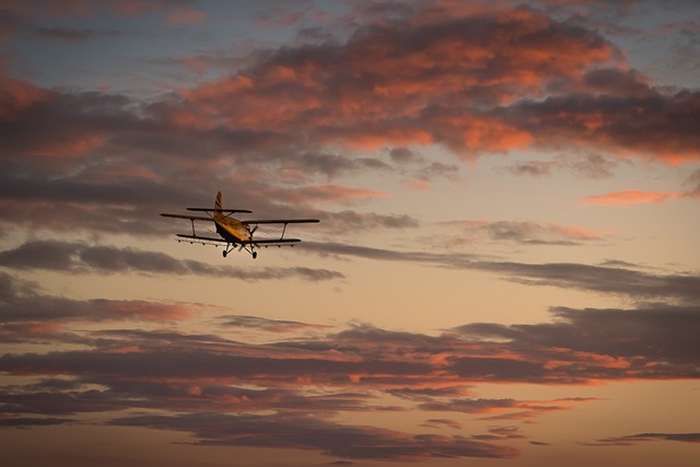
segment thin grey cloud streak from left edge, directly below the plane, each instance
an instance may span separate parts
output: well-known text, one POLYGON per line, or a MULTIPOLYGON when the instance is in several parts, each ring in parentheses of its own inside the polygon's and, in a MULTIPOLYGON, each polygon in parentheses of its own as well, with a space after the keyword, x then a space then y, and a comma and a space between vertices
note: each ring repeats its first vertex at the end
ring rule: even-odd
POLYGON ((81 242, 30 241, 16 248, 0 252, 0 266, 14 269, 45 269, 69 273, 198 275, 245 281, 298 278, 308 281, 342 279, 337 271, 305 268, 248 269, 241 275, 232 266, 211 266, 195 260, 176 259, 164 253, 81 242))

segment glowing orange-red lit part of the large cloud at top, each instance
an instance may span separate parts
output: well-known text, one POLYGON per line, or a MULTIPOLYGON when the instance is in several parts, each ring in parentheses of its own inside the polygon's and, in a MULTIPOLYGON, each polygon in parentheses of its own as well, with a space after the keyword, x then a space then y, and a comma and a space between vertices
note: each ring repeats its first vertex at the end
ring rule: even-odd
POLYGON ((199 126, 303 129, 351 148, 441 142, 460 153, 509 151, 535 137, 495 106, 619 61, 600 37, 530 10, 445 16, 407 40, 409 31, 375 27, 343 45, 272 52, 233 78, 183 90, 185 107, 199 126))

